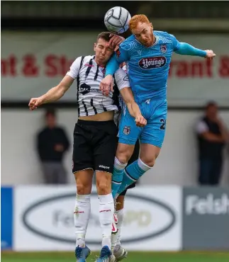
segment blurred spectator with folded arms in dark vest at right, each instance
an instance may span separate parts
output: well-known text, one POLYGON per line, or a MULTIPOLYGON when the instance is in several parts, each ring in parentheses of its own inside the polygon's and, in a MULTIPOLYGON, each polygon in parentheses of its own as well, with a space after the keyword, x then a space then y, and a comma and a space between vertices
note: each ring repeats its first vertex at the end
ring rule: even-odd
POLYGON ((218 185, 223 167, 223 148, 228 130, 218 116, 215 102, 206 105, 205 115, 196 125, 199 142, 199 184, 218 185))

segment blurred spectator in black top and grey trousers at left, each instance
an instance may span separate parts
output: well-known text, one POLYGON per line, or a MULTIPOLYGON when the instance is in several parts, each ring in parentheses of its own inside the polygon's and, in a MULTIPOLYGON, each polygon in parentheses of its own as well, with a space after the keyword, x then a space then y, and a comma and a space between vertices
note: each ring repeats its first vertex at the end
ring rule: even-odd
POLYGON ((62 127, 56 124, 55 110, 45 113, 46 127, 38 133, 38 154, 45 183, 67 183, 62 159, 69 148, 69 140, 62 127))

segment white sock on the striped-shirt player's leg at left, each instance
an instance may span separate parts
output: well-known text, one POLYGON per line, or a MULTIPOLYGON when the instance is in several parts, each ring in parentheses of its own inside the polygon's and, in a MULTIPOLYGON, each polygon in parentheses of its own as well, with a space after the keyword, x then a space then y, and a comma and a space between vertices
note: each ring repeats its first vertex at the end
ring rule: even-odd
POLYGON ((74 205, 74 227, 76 229, 76 246, 85 247, 86 229, 91 213, 90 195, 77 195, 74 205))

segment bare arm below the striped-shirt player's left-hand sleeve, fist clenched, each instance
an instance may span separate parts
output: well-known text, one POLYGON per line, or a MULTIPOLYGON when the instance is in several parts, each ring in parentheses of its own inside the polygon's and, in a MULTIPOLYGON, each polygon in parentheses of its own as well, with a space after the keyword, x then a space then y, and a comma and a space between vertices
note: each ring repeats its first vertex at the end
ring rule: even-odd
POLYGON ((28 106, 30 110, 35 110, 38 106, 43 105, 44 103, 51 103, 59 100, 64 96, 65 92, 72 86, 74 79, 71 76, 65 76, 60 84, 55 87, 52 87, 47 93, 38 98, 31 98, 28 106))

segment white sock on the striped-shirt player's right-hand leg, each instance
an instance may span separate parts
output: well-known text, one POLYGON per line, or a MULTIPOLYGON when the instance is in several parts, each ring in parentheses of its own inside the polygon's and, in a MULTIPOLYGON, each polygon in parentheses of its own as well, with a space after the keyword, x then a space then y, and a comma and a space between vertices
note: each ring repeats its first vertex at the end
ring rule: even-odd
POLYGON ((111 249, 111 226, 113 221, 113 197, 112 194, 99 195, 99 221, 102 229, 102 246, 111 249))

